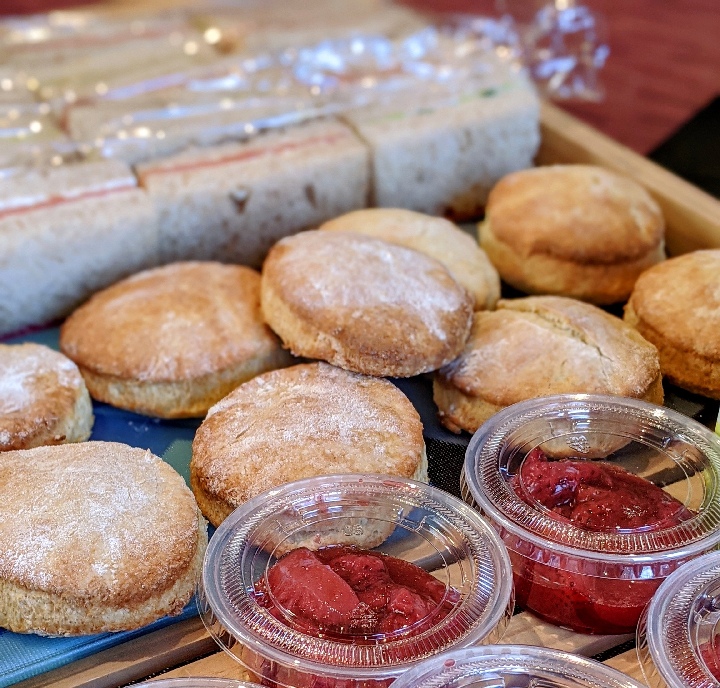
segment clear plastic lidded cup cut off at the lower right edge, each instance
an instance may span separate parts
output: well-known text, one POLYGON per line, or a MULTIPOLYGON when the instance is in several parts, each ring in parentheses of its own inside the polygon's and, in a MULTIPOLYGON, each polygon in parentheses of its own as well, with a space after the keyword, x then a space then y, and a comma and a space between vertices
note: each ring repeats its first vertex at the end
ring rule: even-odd
POLYGON ((640 620, 637 654, 652 688, 720 683, 720 552, 667 577, 640 620))

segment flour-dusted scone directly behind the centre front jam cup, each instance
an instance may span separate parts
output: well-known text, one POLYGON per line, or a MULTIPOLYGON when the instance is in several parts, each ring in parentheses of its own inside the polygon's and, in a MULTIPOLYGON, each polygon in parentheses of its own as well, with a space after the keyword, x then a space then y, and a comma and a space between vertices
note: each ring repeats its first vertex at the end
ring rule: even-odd
POLYGON ((192 444, 190 484, 214 525, 266 489, 336 473, 427 481, 420 416, 387 380, 320 362, 272 371, 215 404, 192 444))

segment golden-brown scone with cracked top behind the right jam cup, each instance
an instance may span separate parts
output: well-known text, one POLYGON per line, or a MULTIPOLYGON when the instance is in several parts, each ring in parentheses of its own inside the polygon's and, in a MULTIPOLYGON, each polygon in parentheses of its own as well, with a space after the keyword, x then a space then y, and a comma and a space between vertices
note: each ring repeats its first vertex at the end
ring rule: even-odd
POLYGON ((459 358, 435 377, 441 422, 474 433, 510 404, 617 394, 662 404, 657 350, 620 318, 564 297, 500 299, 477 312, 459 358))

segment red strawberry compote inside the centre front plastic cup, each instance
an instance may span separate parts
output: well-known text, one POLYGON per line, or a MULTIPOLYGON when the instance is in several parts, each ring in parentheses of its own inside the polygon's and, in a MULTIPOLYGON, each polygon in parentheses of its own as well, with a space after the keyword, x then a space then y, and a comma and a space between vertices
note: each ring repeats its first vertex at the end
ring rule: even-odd
POLYGON ((256 599, 304 633, 370 643, 422 633, 459 594, 409 561, 336 545, 287 553, 256 586, 256 599))

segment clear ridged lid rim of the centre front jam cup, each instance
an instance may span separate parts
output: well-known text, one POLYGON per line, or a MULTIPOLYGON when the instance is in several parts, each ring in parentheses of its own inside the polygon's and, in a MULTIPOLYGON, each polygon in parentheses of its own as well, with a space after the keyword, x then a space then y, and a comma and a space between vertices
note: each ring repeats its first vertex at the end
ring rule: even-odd
MULTIPOLYGON (((274 507, 278 507, 275 512, 282 512, 279 507, 285 503, 283 499, 289 499, 292 494, 307 496, 312 491, 325 495, 330 486, 350 491, 354 488, 360 494, 366 494, 369 489, 377 489, 377 494, 382 494, 383 490, 389 490, 388 494, 392 494, 393 490, 399 490, 399 494, 408 499, 412 497, 419 500, 423 506, 432 507, 433 504, 438 504, 444 517, 456 519, 453 525, 464 522, 467 528, 467 531, 463 532, 466 545, 468 542, 472 543, 472 540, 467 539, 468 535, 478 538, 482 542, 482 546, 487 550, 490 560, 473 563, 475 566, 493 567, 495 571, 495 587, 492 589, 492 597, 487 599, 487 605, 480 610, 480 614, 474 620, 474 625, 470 625, 467 632, 460 635, 456 641, 449 640, 446 647, 455 646, 454 643, 456 643, 457 647, 480 643, 487 635, 492 633, 492 630, 503 623, 504 619, 508 618, 508 610, 510 610, 514 600, 510 558, 498 533, 468 504, 436 487, 411 479, 398 478, 397 476, 374 474, 313 476, 269 489, 257 497, 253 497, 253 499, 242 504, 230 514, 211 538, 203 561, 202 575, 198 583, 198 608, 206 628, 223 649, 230 651, 230 647, 225 641, 227 637, 230 638, 230 643, 239 643, 240 646, 248 647, 267 660, 292 667, 296 671, 332 675, 343 679, 395 678, 402 674, 403 671, 407 671, 409 666, 414 666, 431 656, 432 652, 426 651, 420 656, 409 658, 407 661, 394 661, 392 664, 377 662, 366 665, 331 664, 329 661, 320 661, 314 657, 303 656, 302 643, 312 641, 316 652, 319 652, 318 648, 323 649, 323 652, 320 653, 321 656, 337 656, 337 653, 333 653, 333 651, 337 651, 338 646, 348 647, 348 643, 338 643, 338 641, 318 638, 315 635, 306 635, 301 630, 290 628, 282 624, 282 622, 274 620, 270 615, 264 614, 263 623, 268 619, 272 620, 271 623, 281 628, 282 633, 287 633, 288 638, 293 639, 292 642, 288 641, 287 643, 270 643, 266 638, 262 637, 261 633, 250 628, 251 624, 245 623, 245 620, 240 618, 240 613, 238 613, 240 607, 225 596, 222 585, 219 583, 221 576, 219 571, 228 556, 230 548, 233 548, 233 551, 237 550, 235 541, 238 538, 240 540, 249 538, 256 525, 265 522, 269 518, 269 513, 273 512, 274 507), (307 492, 302 492, 303 490, 307 492), (258 513, 262 515, 261 520, 253 522, 253 515, 258 513), (219 633, 217 632, 217 625, 221 629, 219 633)), ((348 494, 352 494, 352 492, 348 494)), ((287 502, 287 504, 290 503, 287 502)), ((476 580, 473 592, 477 592, 477 586, 476 580)), ((248 591, 245 594, 248 597, 248 591)), ((465 605, 466 601, 462 605, 465 605)), ((243 599, 243 604, 245 603, 243 599)), ((468 608, 471 614, 477 612, 476 607, 477 600, 474 597, 469 599, 468 608)), ((462 611, 463 608, 461 606, 459 610, 462 611)), ((446 619, 453 617, 454 613, 446 617, 446 619)), ((393 644, 400 646, 400 643, 412 643, 418 641, 418 639, 423 641, 425 638, 429 638, 436 629, 442 629, 445 621, 441 620, 437 625, 417 636, 384 643, 383 647, 392 646, 393 644)), ((278 630, 278 628, 274 628, 274 630, 278 630)), ((425 644, 429 646, 431 643, 425 644)), ((233 652, 230 651, 230 654, 233 654, 233 652)))

